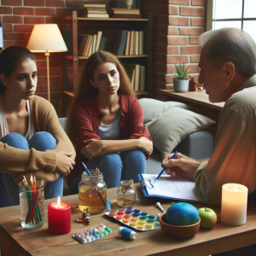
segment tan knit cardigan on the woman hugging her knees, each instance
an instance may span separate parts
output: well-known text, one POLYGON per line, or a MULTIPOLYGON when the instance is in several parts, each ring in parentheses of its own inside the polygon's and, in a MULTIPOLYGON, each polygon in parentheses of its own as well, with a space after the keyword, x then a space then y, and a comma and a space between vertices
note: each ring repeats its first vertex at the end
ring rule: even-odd
POLYGON ((56 139, 54 150, 44 152, 34 148, 30 150, 9 147, 5 143, 0 143, 0 172, 9 173, 18 184, 22 181, 23 175, 30 181, 31 174, 37 180, 44 177, 45 183, 53 182, 61 173, 55 171, 56 151, 73 152, 71 158, 75 159, 75 149, 62 129, 55 108, 50 102, 39 96, 34 96, 30 100, 30 108, 35 131, 47 131, 56 139))

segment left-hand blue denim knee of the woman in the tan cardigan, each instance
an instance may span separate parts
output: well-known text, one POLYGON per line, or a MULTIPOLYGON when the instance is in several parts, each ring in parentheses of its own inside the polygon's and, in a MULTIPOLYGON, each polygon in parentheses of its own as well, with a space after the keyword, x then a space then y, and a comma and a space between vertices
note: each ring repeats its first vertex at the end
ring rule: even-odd
POLYGON ((28 150, 29 146, 26 138, 20 133, 12 132, 0 139, 1 143, 6 143, 10 147, 28 150))

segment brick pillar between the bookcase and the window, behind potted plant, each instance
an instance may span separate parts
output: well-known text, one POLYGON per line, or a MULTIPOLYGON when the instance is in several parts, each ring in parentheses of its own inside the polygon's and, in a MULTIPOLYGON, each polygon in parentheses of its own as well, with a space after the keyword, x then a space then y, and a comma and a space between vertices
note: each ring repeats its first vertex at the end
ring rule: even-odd
POLYGON ((154 96, 172 89, 174 64, 184 62, 198 79, 201 47, 198 36, 206 30, 207 0, 143 0, 143 12, 154 12, 154 96))

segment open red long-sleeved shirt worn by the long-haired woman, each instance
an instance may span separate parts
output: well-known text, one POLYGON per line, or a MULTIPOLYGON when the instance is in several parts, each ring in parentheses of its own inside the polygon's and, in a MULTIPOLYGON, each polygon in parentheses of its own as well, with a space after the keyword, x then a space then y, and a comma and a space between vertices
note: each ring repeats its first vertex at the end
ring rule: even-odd
MULTIPOLYGON (((151 140, 148 128, 143 126, 143 108, 136 98, 120 94, 121 104, 121 123, 119 140, 138 139, 146 137, 151 140)), ((76 159, 73 171, 67 177, 67 184, 79 173, 83 172, 82 161, 88 162, 89 159, 81 154, 84 148, 84 141, 89 139, 101 140, 97 136, 99 126, 102 121, 102 109, 100 108, 96 96, 78 102, 73 108, 73 120, 79 129, 79 136, 76 141, 76 159)), ((149 155, 146 155, 148 160, 149 155)))

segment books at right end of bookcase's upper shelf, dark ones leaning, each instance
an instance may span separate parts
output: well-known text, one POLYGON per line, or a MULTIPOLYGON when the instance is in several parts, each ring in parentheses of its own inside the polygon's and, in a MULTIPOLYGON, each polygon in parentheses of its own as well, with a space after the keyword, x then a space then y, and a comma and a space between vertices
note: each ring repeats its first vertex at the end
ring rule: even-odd
POLYGON ((143 55, 143 31, 115 32, 111 52, 114 55, 143 55))

